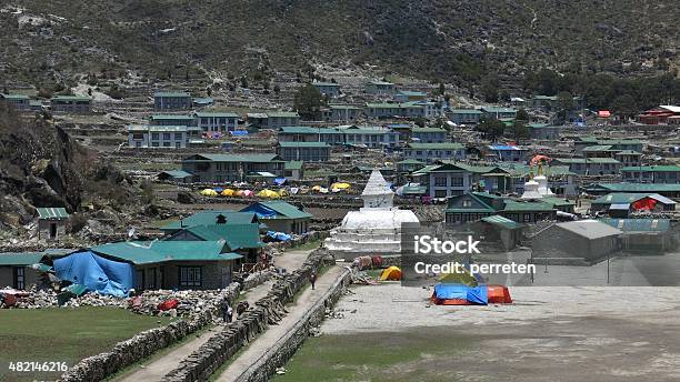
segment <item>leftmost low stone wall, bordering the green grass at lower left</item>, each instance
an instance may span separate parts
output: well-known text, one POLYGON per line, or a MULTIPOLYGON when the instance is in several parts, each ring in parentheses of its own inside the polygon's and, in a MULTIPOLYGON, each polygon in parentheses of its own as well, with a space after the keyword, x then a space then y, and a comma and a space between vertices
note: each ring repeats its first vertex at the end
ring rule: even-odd
POLYGON ((241 291, 239 283, 232 283, 220 295, 206 302, 206 309, 200 312, 172 322, 162 328, 150 329, 133 338, 117 343, 109 352, 89 356, 61 375, 64 382, 97 382, 108 375, 139 362, 154 352, 180 341, 184 336, 208 325, 213 319, 221 316, 221 305, 224 299, 236 301, 241 291))

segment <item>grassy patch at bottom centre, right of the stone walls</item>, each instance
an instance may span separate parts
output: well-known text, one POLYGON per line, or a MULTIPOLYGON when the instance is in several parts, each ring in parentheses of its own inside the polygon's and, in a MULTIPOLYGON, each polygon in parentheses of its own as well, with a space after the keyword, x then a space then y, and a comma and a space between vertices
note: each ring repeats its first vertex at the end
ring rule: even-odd
POLYGON ((450 368, 442 375, 438 364, 451 362, 469 344, 467 338, 426 328, 310 338, 273 381, 456 381, 450 368))

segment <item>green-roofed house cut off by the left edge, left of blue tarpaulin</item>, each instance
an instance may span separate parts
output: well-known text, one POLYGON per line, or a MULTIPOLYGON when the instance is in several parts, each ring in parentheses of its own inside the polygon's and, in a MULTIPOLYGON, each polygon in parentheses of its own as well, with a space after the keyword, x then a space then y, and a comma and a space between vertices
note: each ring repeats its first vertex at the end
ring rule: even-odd
POLYGON ((39 274, 31 267, 40 262, 42 252, 0 253, 0 289, 28 290, 39 284, 39 274))

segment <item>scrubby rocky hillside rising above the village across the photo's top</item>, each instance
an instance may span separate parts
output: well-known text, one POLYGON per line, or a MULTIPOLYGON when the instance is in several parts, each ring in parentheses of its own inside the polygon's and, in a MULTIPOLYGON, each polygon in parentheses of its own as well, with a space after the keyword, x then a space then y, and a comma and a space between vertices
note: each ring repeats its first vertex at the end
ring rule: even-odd
POLYGON ((248 76, 379 66, 433 80, 528 69, 642 74, 673 66, 670 0, 8 0, 0 79, 248 76))

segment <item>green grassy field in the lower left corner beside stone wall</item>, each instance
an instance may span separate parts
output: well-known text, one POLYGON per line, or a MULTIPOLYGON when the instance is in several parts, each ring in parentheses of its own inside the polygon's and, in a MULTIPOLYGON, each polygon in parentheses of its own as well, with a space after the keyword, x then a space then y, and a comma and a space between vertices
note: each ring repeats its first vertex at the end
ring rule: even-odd
POLYGON ((57 380, 60 372, 12 372, 9 363, 66 362, 71 368, 83 358, 169 321, 117 308, 3 310, 0 381, 57 380))

